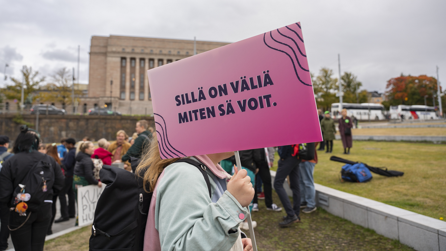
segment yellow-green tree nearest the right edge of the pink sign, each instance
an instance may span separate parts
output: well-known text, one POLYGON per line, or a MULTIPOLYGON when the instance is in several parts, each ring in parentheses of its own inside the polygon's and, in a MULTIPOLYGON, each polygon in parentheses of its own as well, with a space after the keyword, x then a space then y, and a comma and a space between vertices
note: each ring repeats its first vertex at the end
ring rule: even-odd
POLYGON ((332 78, 333 71, 322 67, 319 75, 314 78, 313 88, 316 96, 316 105, 323 110, 329 110, 332 103, 338 102, 336 90, 338 89, 338 79, 332 78))

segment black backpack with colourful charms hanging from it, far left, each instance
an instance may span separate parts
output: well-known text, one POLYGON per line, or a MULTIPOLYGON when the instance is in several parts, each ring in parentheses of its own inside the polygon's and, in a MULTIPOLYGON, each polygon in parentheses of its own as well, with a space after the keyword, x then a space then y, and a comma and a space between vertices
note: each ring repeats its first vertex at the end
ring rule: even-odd
POLYGON ((48 155, 43 155, 14 189, 11 200, 13 207, 24 202, 26 208, 19 205, 21 209, 26 209, 24 213, 38 211, 48 192, 52 191, 54 184, 54 169, 48 158, 48 155))

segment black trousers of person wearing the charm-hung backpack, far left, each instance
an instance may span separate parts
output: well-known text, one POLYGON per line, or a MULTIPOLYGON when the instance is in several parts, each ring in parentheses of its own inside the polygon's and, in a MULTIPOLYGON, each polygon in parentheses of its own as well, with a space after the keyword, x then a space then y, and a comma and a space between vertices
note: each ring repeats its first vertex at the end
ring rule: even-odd
MULTIPOLYGON (((51 204, 44 202, 39 211, 31 213, 21 228, 11 231, 12 244, 16 251, 42 251, 45 244, 46 231, 51 221, 51 204)), ((9 214, 9 227, 15 229, 25 222, 29 215, 19 216, 15 211, 9 214)))

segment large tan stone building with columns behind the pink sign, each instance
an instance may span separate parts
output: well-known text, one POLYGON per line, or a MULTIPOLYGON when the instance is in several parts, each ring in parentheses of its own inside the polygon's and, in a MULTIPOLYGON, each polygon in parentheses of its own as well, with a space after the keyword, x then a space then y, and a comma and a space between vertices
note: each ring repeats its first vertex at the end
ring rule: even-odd
MULTIPOLYGON (((229 43, 196 41, 202 53, 229 43)), ((93 36, 88 97, 80 104, 131 114, 153 113, 147 70, 194 55, 193 40, 93 36)))

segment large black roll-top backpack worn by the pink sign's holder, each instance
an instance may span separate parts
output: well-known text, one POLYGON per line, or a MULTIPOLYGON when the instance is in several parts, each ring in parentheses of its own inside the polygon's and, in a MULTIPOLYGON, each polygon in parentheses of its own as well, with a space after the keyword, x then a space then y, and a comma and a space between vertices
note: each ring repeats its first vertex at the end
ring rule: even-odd
MULTIPOLYGON (((130 158, 132 172, 103 165, 99 176, 107 186, 99 197, 91 226, 90 251, 142 251, 152 193, 144 191, 143 179, 134 174, 139 159, 130 158)), ((200 170, 211 197, 206 166, 192 159, 178 159, 200 170)))

